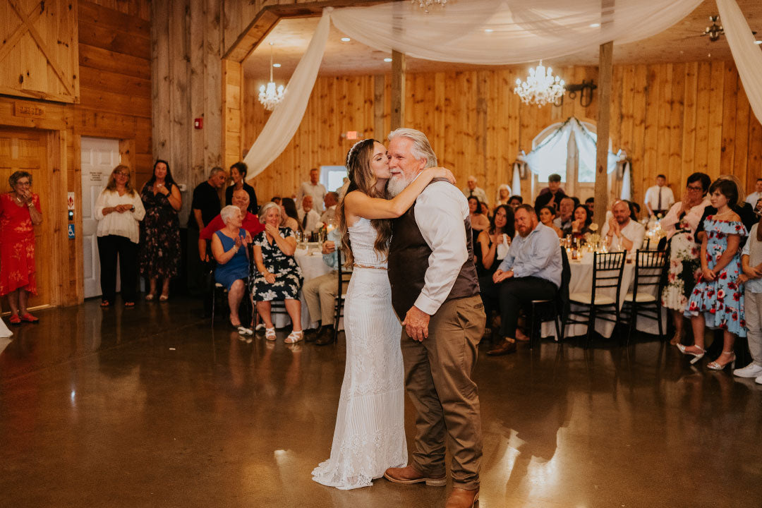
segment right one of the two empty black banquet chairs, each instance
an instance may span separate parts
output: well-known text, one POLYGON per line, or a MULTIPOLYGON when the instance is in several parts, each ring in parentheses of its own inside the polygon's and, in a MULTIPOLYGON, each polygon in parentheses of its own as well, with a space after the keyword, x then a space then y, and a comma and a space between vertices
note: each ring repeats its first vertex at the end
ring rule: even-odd
POLYGON ((667 265, 666 251, 637 251, 635 279, 632 292, 624 297, 623 324, 629 324, 627 343, 636 327, 638 316, 654 319, 658 323, 659 338, 663 338, 661 324, 661 290, 664 289, 662 273, 667 265))

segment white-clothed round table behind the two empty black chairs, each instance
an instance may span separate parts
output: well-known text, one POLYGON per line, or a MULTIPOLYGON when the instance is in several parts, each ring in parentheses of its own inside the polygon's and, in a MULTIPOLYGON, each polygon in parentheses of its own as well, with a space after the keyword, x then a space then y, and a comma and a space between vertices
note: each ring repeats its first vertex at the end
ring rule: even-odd
MULTIPOLYGON (((586 254, 581 260, 569 260, 569 268, 571 269, 571 278, 569 279, 569 294, 575 292, 590 293, 593 284, 593 254, 586 254)), ((635 279, 635 263, 625 263, 622 273, 622 285, 620 286, 620 310, 624 304, 624 298, 627 292, 632 291, 632 283, 635 279)), ((646 292, 651 292, 652 295, 656 294, 655 286, 648 286, 645 288, 646 292)), ((604 295, 616 298, 616 288, 598 289, 597 292, 602 292, 604 295)), ((575 319, 584 319, 579 315, 575 315, 575 309, 579 310, 579 305, 571 305, 571 317, 575 319)), ((595 331, 601 334, 603 337, 609 338, 613 334, 615 323, 612 321, 606 321, 604 319, 595 320, 595 331)), ((661 326, 662 330, 666 331, 667 327, 667 312, 663 307, 661 308, 661 326)), ((645 316, 638 316, 636 321, 636 330, 645 332, 646 334, 658 334, 659 327, 658 322, 655 319, 647 318, 645 316)), ((578 337, 588 333, 588 327, 586 324, 568 324, 564 330, 564 337, 578 337)), ((543 337, 553 337, 555 340, 555 324, 552 321, 543 323, 542 327, 543 337)))

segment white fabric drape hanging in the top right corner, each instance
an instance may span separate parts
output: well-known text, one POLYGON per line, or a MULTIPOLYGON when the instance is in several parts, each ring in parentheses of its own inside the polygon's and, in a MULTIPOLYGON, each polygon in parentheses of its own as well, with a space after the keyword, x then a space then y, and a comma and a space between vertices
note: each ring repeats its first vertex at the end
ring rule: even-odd
POLYGON ((751 110, 762 122, 762 46, 754 43, 754 34, 735 0, 717 0, 717 8, 751 110))

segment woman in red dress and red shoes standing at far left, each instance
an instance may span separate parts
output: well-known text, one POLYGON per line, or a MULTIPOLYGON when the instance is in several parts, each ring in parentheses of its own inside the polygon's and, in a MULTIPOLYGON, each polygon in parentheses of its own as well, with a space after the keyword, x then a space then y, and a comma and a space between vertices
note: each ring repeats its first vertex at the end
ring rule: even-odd
POLYGON ((37 295, 34 226, 43 222, 40 196, 32 192, 32 175, 15 171, 11 192, 0 194, 0 296, 8 296, 11 324, 40 321, 27 311, 29 293, 37 295))

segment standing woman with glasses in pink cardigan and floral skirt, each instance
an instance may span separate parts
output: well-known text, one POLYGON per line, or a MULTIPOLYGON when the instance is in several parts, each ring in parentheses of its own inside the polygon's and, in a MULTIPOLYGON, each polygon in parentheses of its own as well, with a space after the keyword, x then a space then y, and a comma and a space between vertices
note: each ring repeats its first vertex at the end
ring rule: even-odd
POLYGON ((695 235, 704 209, 709 206, 706 191, 711 183, 708 174, 691 174, 683 200, 674 203, 664 219, 661 219, 661 228, 667 233, 669 252, 667 281, 661 292, 661 305, 671 310, 675 332, 670 343, 675 346, 683 339, 683 313, 693 287, 696 286, 696 273, 701 270, 695 235))

